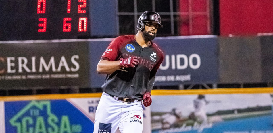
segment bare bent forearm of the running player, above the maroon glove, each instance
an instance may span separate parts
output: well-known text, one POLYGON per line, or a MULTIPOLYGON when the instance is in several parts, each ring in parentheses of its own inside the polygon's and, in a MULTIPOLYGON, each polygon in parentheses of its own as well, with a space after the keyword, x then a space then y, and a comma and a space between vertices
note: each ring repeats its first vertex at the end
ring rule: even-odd
POLYGON ((120 61, 100 60, 97 65, 98 74, 111 74, 120 69, 120 61))

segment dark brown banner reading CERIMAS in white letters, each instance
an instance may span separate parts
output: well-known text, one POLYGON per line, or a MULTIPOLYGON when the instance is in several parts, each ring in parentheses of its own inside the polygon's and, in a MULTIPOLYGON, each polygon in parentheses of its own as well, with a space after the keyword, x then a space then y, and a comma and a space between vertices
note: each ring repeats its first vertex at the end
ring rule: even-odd
POLYGON ((86 42, 0 44, 0 88, 89 86, 86 42))

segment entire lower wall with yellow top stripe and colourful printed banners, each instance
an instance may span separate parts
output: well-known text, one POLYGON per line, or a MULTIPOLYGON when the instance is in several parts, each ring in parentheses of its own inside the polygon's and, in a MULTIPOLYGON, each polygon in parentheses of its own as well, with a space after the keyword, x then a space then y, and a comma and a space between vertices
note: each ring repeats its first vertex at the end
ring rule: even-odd
MULTIPOLYGON (((152 105, 143 106, 143 133, 270 133, 272 92, 273 88, 152 90, 152 105), (198 105, 193 102, 198 95, 208 101, 201 112, 195 110, 198 105), (204 113, 206 122, 201 121, 204 113)), ((101 93, 2 96, 0 131, 93 132, 100 96, 101 93)))

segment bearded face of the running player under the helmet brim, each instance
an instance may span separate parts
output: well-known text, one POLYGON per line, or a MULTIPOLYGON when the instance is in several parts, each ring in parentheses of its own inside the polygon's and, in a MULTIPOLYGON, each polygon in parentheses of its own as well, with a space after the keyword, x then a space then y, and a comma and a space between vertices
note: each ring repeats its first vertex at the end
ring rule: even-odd
POLYGON ((151 41, 156 37, 158 27, 159 25, 156 23, 145 23, 145 29, 142 31, 145 41, 151 41))

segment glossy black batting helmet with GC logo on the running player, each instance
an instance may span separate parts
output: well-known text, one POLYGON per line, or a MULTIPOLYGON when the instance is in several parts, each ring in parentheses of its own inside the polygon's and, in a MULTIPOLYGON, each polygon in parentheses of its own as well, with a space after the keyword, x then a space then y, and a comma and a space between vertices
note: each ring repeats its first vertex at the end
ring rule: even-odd
POLYGON ((145 24, 143 22, 157 23, 159 27, 161 28, 163 27, 163 25, 160 24, 161 23, 160 15, 154 11, 145 11, 140 15, 136 25, 136 29, 138 31, 141 31, 145 28, 145 24))

